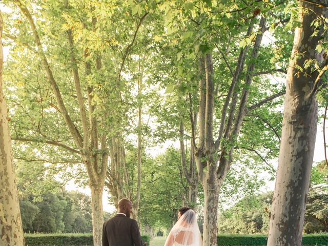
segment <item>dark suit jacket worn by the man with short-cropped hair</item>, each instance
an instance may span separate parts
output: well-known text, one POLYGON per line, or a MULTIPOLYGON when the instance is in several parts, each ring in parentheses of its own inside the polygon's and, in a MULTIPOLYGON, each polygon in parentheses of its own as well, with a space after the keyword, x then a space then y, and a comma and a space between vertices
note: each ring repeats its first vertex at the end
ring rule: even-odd
POLYGON ((103 226, 103 246, 141 246, 137 221, 123 214, 107 220, 103 226))

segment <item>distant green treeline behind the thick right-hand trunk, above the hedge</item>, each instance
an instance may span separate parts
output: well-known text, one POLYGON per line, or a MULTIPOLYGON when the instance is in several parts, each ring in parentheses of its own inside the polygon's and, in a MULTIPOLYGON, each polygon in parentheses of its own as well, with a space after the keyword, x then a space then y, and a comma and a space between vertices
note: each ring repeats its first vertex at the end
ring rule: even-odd
MULTIPOLYGON (((219 215, 219 233, 267 234, 273 192, 245 197, 219 215)), ((328 232, 326 186, 310 189, 304 218, 304 233, 328 232)))

